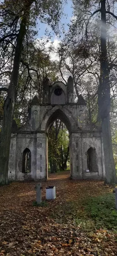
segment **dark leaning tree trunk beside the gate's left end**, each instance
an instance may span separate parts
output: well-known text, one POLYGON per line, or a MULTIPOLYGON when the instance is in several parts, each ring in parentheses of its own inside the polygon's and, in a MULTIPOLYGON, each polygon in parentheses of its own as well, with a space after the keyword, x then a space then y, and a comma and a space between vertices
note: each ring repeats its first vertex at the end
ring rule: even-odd
POLYGON ((22 53, 23 39, 25 36, 27 17, 29 15, 30 5, 26 8, 26 13, 21 21, 17 44, 15 49, 13 71, 8 88, 7 98, 4 104, 3 122, 0 133, 0 184, 8 184, 8 162, 11 141, 11 128, 15 106, 15 94, 18 83, 18 74, 20 67, 20 59, 22 53))

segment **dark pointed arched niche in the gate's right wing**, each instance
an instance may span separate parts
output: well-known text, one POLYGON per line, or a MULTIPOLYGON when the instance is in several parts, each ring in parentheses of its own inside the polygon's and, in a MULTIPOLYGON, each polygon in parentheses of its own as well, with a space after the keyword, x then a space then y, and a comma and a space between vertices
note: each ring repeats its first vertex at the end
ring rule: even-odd
POLYGON ((87 151, 87 168, 89 172, 98 172, 97 154, 95 148, 92 147, 87 151))

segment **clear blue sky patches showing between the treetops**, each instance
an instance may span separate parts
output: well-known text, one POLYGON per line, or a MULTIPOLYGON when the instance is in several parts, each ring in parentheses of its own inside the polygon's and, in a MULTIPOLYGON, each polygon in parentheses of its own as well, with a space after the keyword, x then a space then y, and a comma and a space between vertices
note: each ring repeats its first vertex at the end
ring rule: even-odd
MULTIPOLYGON (((64 4, 64 11, 65 14, 67 14, 67 16, 63 15, 63 17, 61 18, 61 24, 65 24, 64 28, 67 31, 68 30, 68 26, 67 24, 70 23, 70 20, 73 16, 72 12, 72 0, 67 0, 67 4, 64 4)), ((49 27, 47 24, 44 23, 40 23, 39 21, 37 21, 37 30, 38 30, 38 35, 37 38, 41 38, 41 37, 45 37, 45 29, 48 28, 49 31, 51 31, 52 33, 52 38, 51 40, 60 40, 59 37, 57 37, 55 35, 55 33, 52 31, 51 27, 49 27)), ((62 34, 61 34, 62 36, 62 34)))

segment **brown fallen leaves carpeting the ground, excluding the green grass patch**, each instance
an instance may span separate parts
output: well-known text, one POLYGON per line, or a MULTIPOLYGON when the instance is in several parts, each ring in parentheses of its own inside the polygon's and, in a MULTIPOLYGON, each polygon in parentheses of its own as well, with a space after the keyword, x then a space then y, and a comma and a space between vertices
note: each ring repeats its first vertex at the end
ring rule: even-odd
POLYGON ((112 187, 103 181, 69 180, 68 172, 51 175, 42 183, 42 199, 45 200, 45 188, 55 185, 56 200, 44 207, 34 207, 36 183, 15 182, 0 187, 0 255, 117 255, 117 235, 113 232, 101 228, 85 232, 74 222, 74 212, 73 218, 68 215, 65 222, 61 222, 61 212, 56 219, 58 205, 73 201, 84 214, 82 200, 86 196, 104 195, 112 187))

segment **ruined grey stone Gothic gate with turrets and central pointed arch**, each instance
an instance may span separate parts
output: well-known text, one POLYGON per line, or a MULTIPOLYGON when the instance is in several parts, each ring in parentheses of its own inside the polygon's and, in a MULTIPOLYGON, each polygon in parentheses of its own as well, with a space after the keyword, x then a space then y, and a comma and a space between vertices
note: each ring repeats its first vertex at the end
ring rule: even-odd
POLYGON ((42 103, 34 96, 26 124, 18 129, 13 121, 8 171, 10 181, 47 179, 47 129, 56 118, 63 121, 69 131, 71 178, 104 179, 101 130, 88 123, 86 102, 82 95, 77 103, 74 102, 74 83, 70 76, 67 86, 60 81, 50 85, 46 78, 42 103))

